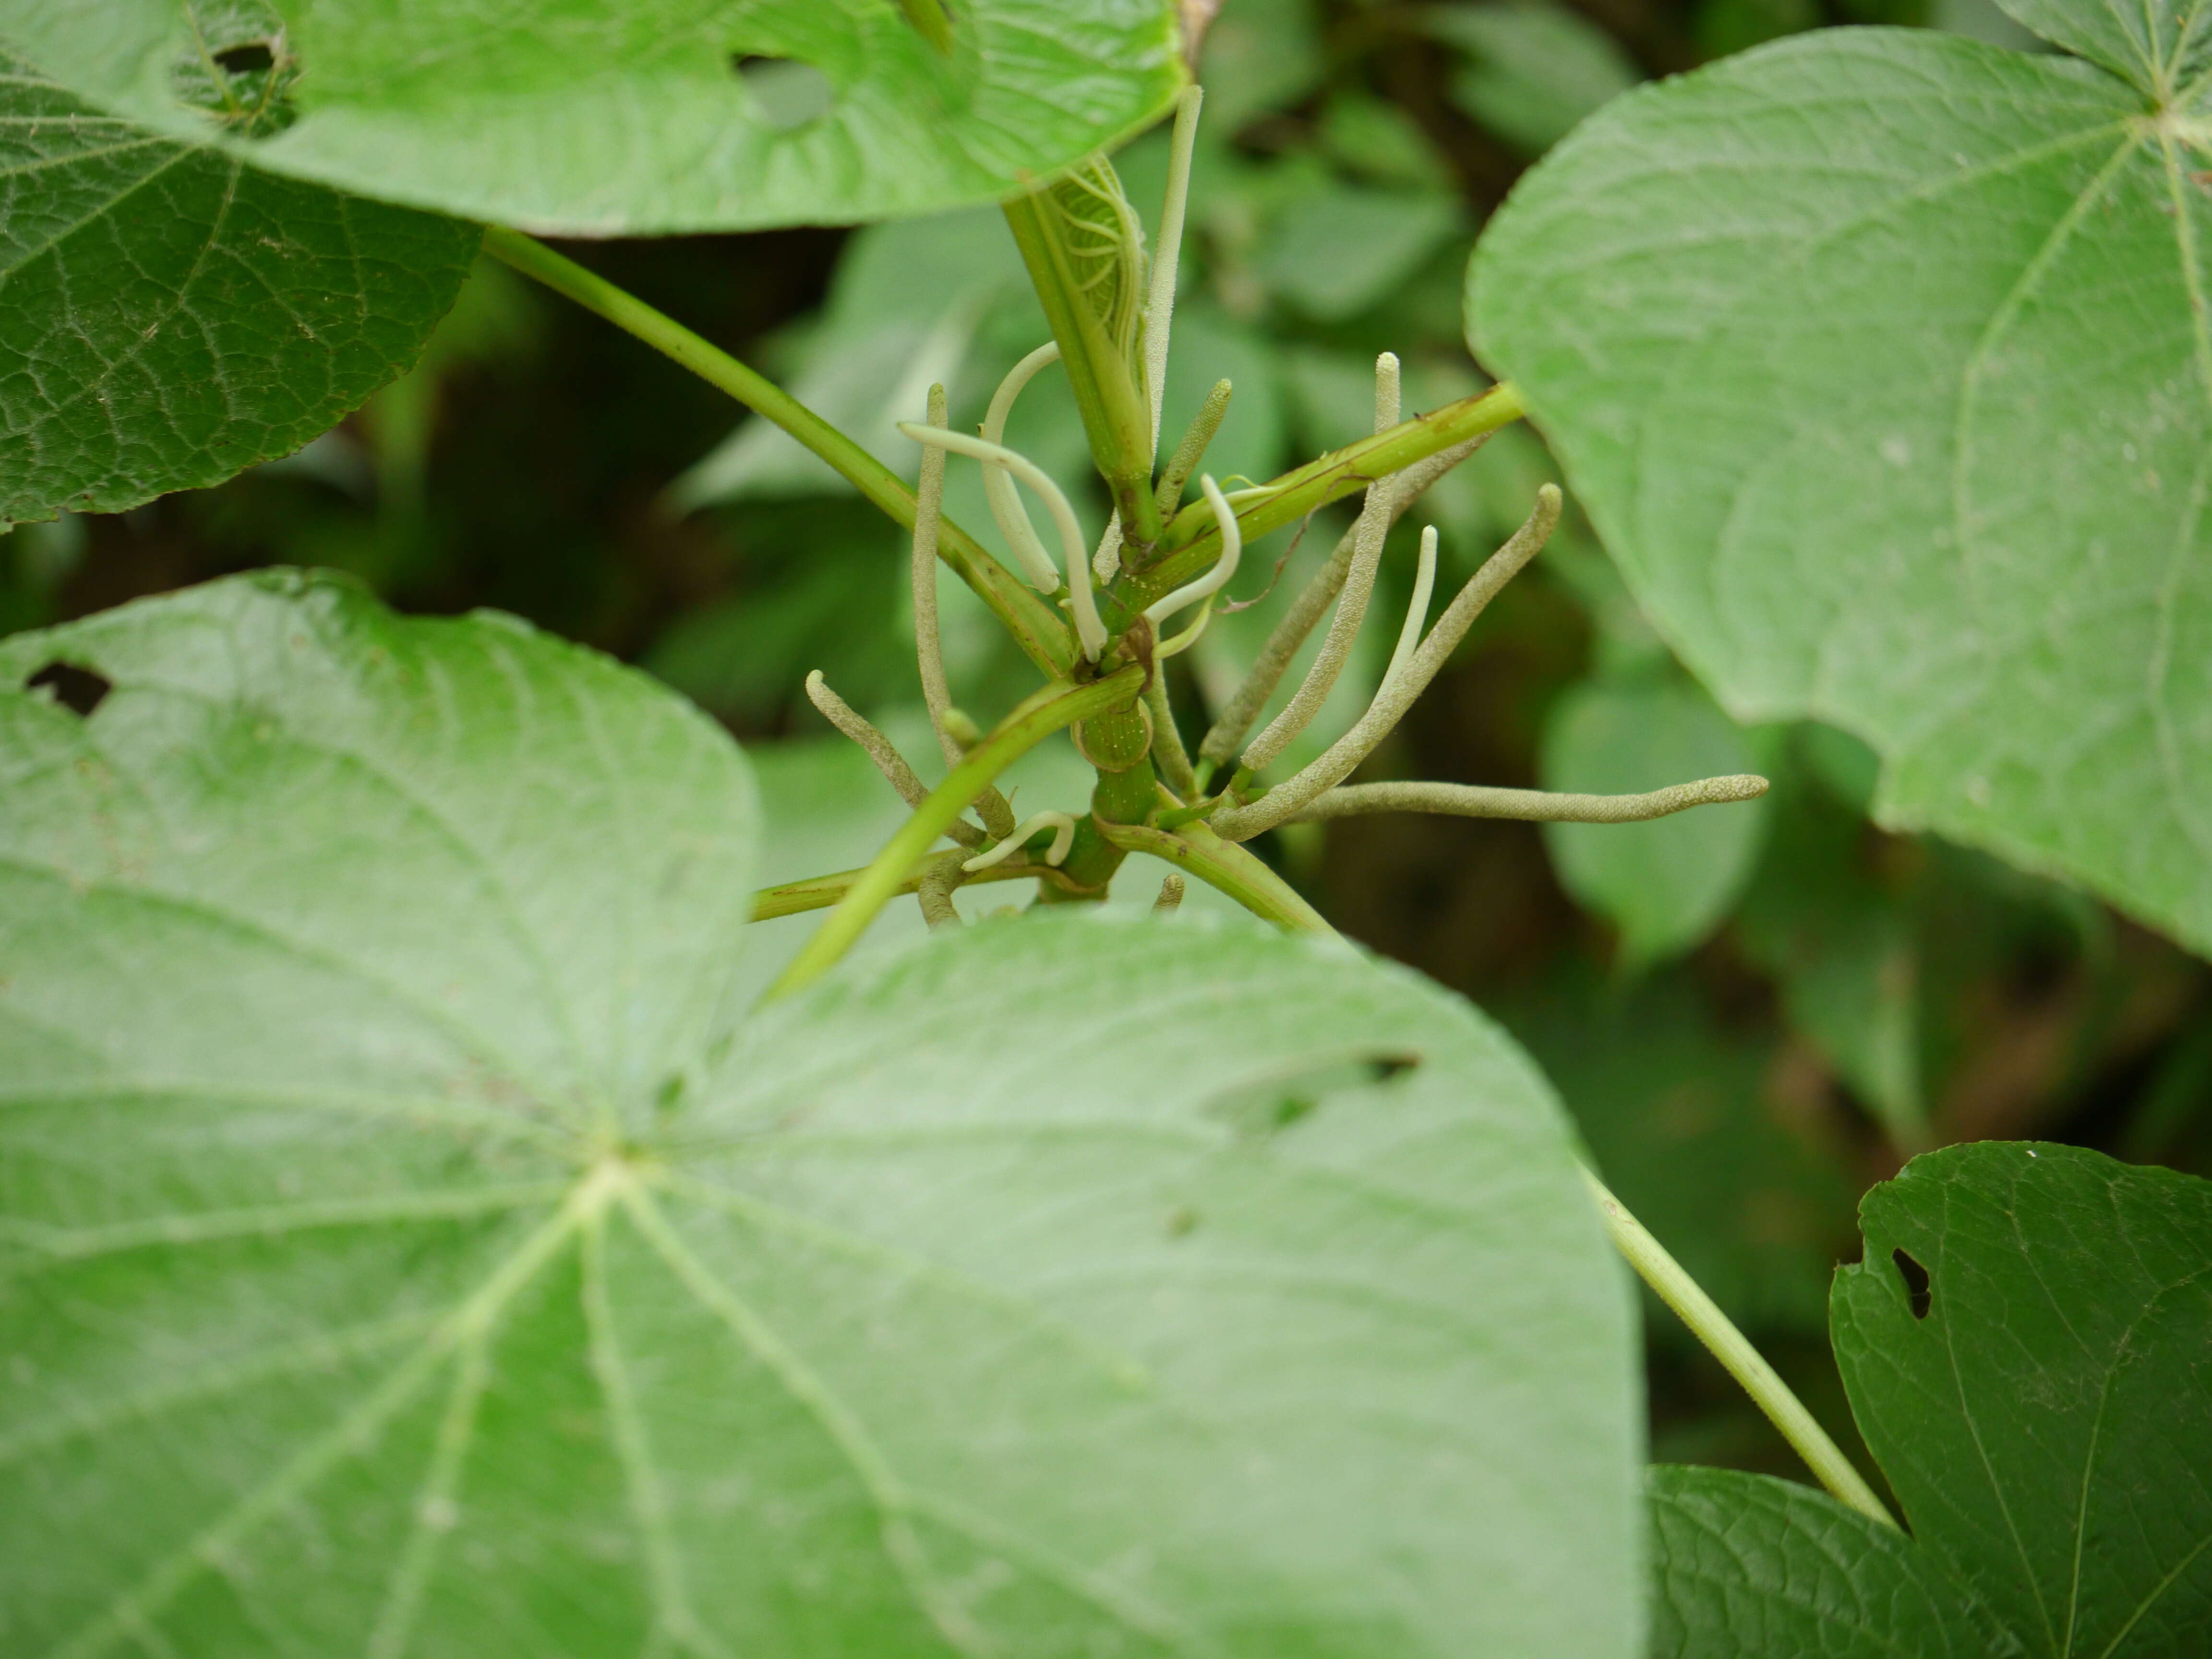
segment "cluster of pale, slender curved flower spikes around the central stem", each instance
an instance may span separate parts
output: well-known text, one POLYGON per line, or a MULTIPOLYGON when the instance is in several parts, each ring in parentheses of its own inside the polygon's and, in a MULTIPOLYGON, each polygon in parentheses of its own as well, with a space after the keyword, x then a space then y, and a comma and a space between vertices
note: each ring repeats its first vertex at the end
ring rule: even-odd
MULTIPOLYGON (((1108 338, 1126 354, 1133 378, 1144 387, 1152 416, 1152 449, 1159 447, 1161 392, 1166 385, 1168 330, 1175 305, 1177 254, 1183 232, 1183 208, 1190 188, 1190 157, 1197 137, 1199 88, 1188 88, 1177 106, 1168 199, 1161 212, 1159 254, 1150 261, 1144 303, 1137 303, 1137 272, 1144 270, 1144 234, 1128 208, 1119 181, 1104 161, 1091 161, 1051 188, 1048 199, 1062 215, 1066 246, 1075 257, 1077 285, 1106 325, 1108 338)), ((1126 849, 1161 852, 1161 836, 1206 836, 1214 843, 1241 843, 1285 823, 1310 823, 1369 812, 1438 812, 1464 818, 1522 818, 1533 823, 1635 823, 1661 818, 1697 805, 1750 801, 1765 794, 1761 776, 1714 776, 1677 783, 1646 794, 1562 794, 1551 790, 1509 790, 1467 783, 1347 783, 1358 765, 1391 734, 1429 681, 1444 668, 1484 606, 1511 582, 1551 540, 1559 522, 1562 495, 1555 484, 1537 489, 1528 520, 1469 577, 1460 593, 1429 624, 1436 588, 1436 526, 1420 533, 1413 573, 1413 597, 1389 666, 1367 706, 1367 712, 1332 743, 1316 761, 1294 776, 1261 787, 1263 774, 1327 703, 1354 641, 1367 619, 1383 549, 1396 520, 1447 471, 1482 447, 1484 438, 1418 460, 1402 471, 1367 480, 1360 513, 1338 540, 1329 560, 1305 584, 1290 611, 1267 635, 1256 661, 1237 692, 1223 703, 1192 759, 1177 732, 1168 706, 1161 664, 1188 650, 1206 630, 1217 595, 1237 575, 1243 535, 1237 522, 1241 502, 1272 493, 1272 487, 1223 491, 1201 473, 1197 484, 1221 533, 1221 555, 1206 575, 1188 582, 1146 606, 1119 637, 1110 637, 1099 613, 1099 591, 1119 575, 1121 526, 1115 518, 1093 549, 1073 504, 1053 478, 1033 460, 1004 442, 1006 418, 1022 389, 1040 369, 1060 361, 1060 345, 1044 343, 1009 369, 991 396, 978 434, 945 425, 945 387, 931 387, 927 418, 900 422, 900 431, 922 447, 920 482, 914 515, 914 633, 920 659, 922 701, 929 708, 938 745, 947 765, 958 765, 980 732, 951 706, 938 641, 938 522, 945 493, 945 456, 967 456, 982 465, 984 495, 991 518, 1006 540, 1015 568, 1046 597, 1068 611, 1086 664, 1106 666, 1119 655, 1146 664, 1144 726, 1150 734, 1157 807, 1144 825, 1115 825, 1093 818, 1099 834, 1126 849), (1029 489, 1046 509, 1060 544, 1055 557, 1022 504, 1029 489), (1190 619, 1177 633, 1168 624, 1183 613, 1190 619), (1305 679, 1281 712, 1256 737, 1250 737, 1259 714, 1274 699, 1298 650, 1312 637, 1321 617, 1329 628, 1305 679), (1248 741, 1250 739, 1250 741, 1248 741), (1230 765, 1234 761, 1234 765, 1230 765), (1230 776, 1212 790, 1223 768, 1230 776)), ((1155 502, 1161 520, 1181 504, 1190 476, 1208 442, 1228 414, 1230 383, 1219 380, 1206 398, 1168 465, 1159 471, 1155 502)), ((1385 431, 1400 420, 1398 358, 1385 352, 1376 358, 1374 429, 1385 431)), ((807 677, 807 697, 845 737, 854 739, 898 790, 907 805, 918 807, 929 794, 907 759, 863 714, 847 706, 821 672, 807 677)), ((995 790, 984 790, 971 807, 980 823, 960 818, 951 825, 958 849, 925 860, 909 883, 931 927, 958 925, 951 894, 967 880, 1004 880, 1037 876, 1055 880, 1068 856, 1079 821, 1068 812, 1037 812, 1015 821, 1011 805, 995 790)), ((1062 883, 1064 885, 1064 883, 1062 883)), ((1168 876, 1157 909, 1175 909, 1181 900, 1181 876, 1168 876)))

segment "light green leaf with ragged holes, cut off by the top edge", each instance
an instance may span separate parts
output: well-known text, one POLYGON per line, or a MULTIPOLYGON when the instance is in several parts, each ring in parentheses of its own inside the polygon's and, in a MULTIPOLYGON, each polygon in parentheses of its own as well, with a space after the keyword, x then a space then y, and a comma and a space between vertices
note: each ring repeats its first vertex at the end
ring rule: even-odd
MULTIPOLYGON (((922 0, 931 4, 933 0, 922 0)), ((989 201, 1150 122, 1183 80, 1155 0, 958 0, 953 49, 885 0, 24 0, 86 97, 259 166, 573 234, 845 223, 989 201), (208 119, 239 53, 281 131, 208 119)))

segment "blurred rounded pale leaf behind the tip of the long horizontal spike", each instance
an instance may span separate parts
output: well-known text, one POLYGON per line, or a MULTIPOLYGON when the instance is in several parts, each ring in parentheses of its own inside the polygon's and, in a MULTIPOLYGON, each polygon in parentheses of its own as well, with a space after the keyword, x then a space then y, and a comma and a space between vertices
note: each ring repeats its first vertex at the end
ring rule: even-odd
MULTIPOLYGON (((1754 770, 1743 732, 1688 684, 1582 684, 1544 728, 1546 790, 1628 794, 1754 770)), ((1621 929, 1624 956, 1652 962, 1719 927, 1763 830, 1765 803, 1750 801, 1650 823, 1546 823, 1544 845, 1566 891, 1621 929)))

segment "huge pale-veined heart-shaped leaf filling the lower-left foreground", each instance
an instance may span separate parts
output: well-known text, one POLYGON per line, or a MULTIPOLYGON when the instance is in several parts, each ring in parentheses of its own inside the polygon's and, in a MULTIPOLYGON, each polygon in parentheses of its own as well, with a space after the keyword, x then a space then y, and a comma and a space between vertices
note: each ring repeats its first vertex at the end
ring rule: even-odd
POLYGON ((1057 914, 741 1020, 745 765, 604 659, 276 575, 0 684, 7 1652, 1637 1650, 1455 998, 1057 914))

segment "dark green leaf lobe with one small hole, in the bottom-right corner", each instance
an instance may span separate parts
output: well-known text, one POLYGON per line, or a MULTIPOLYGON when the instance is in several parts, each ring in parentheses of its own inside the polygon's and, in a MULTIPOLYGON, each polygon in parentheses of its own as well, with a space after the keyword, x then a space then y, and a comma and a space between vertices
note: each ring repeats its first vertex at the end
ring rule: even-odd
POLYGON ((2212 1183, 2070 1146, 1913 1159, 1832 1325, 1920 1544, 2031 1655, 2212 1628, 2212 1183))

